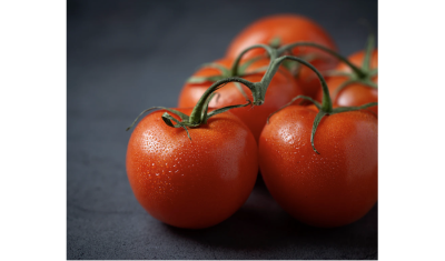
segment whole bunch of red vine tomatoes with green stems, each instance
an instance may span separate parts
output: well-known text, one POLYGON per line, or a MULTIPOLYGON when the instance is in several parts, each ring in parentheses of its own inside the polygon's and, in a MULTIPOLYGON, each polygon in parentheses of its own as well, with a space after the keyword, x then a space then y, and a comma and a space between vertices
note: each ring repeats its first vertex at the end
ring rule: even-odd
POLYGON ((373 43, 344 58, 306 17, 254 21, 225 58, 190 76, 177 108, 142 112, 158 109, 128 143, 136 199, 167 224, 208 228, 246 202, 260 174, 300 222, 332 228, 360 219, 378 200, 373 43))

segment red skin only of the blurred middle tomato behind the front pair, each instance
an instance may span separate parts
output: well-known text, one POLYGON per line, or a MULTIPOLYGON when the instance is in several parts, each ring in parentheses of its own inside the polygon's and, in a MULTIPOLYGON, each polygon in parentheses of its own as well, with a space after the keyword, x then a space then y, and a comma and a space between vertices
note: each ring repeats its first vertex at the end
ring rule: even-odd
MULTIPOLYGON (((230 69, 233 64, 231 59, 221 59, 218 60, 217 63, 230 69)), ((251 72, 255 69, 261 68, 264 66, 268 66, 269 60, 263 59, 255 63, 253 63, 248 70, 251 72)), ((220 76, 221 72, 214 68, 204 68, 198 70, 194 77, 208 77, 208 76, 220 76)), ((259 82, 264 76, 264 72, 254 73, 250 76, 241 77, 251 82, 259 82)), ((182 91, 179 96, 178 107, 179 108, 188 108, 194 107, 202 93, 211 86, 212 82, 204 82, 204 83, 186 83, 182 88, 182 91)), ((241 84, 243 86, 243 84, 241 84)), ((243 86, 245 93, 253 100, 251 91, 243 86)), ((221 108, 227 106, 243 104, 246 103, 246 98, 243 93, 236 88, 234 82, 227 83, 227 86, 217 90, 220 94, 219 98, 214 98, 209 107, 212 108, 221 108)), ((250 129, 256 140, 258 140, 259 134, 261 133, 263 127, 266 124, 266 120, 270 113, 278 110, 286 103, 288 103, 294 97, 303 94, 303 90, 299 84, 295 82, 291 74, 280 68, 273 80, 269 83, 269 87, 266 91, 265 103, 258 107, 245 107, 230 110, 231 113, 239 117, 244 123, 250 129)), ((297 101, 298 102, 298 101, 297 101)))

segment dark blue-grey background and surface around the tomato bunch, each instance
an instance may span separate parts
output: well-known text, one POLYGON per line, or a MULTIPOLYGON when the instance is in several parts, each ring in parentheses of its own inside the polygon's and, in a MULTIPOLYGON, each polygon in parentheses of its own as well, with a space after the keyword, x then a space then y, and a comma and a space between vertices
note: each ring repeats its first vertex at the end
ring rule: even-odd
POLYGON ((145 109, 175 107, 185 80, 224 57, 248 23, 307 16, 348 56, 378 41, 378 1, 66 1, 67 260, 377 260, 378 203, 336 229, 299 223, 263 180, 225 222, 184 230, 151 218, 127 180, 125 129, 145 109))

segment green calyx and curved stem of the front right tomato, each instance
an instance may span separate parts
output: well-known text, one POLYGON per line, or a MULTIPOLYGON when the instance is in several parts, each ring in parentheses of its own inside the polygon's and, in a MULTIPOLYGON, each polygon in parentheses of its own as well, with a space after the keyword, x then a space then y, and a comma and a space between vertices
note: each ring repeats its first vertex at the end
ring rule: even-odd
POLYGON ((373 106, 378 106, 378 102, 369 102, 369 103, 363 104, 360 107, 338 107, 338 108, 333 108, 333 101, 332 101, 330 96, 329 96, 329 89, 327 87, 327 83, 326 83, 325 79, 323 78, 322 73, 313 64, 310 64, 307 61, 305 61, 305 60, 303 60, 300 58, 297 58, 297 57, 283 56, 283 57, 279 57, 279 58, 275 59, 273 61, 273 64, 270 66, 270 68, 274 68, 274 69, 278 68, 279 63, 281 63, 286 59, 298 61, 298 62, 309 67, 317 74, 317 77, 318 77, 318 79, 319 79, 319 81, 322 83, 322 90, 323 90, 322 103, 315 101, 314 99, 312 99, 310 97, 307 97, 307 96, 297 96, 290 102, 288 102, 287 104, 285 104, 284 107, 281 107, 280 109, 278 109, 277 111, 271 113, 267 119, 267 124, 269 123, 269 119, 270 119, 271 116, 274 116, 276 112, 280 111, 281 109, 290 106, 297 99, 305 99, 305 100, 308 100, 308 101, 313 102, 317 107, 318 113, 314 119, 313 130, 312 130, 312 133, 310 133, 310 144, 313 147, 313 150, 317 154, 319 154, 319 152, 315 149, 314 137, 315 137, 315 133, 317 131, 317 127, 320 123, 323 117, 332 116, 332 114, 335 114, 335 113, 347 112, 347 111, 356 111, 356 110, 367 109, 367 108, 373 107, 373 106))

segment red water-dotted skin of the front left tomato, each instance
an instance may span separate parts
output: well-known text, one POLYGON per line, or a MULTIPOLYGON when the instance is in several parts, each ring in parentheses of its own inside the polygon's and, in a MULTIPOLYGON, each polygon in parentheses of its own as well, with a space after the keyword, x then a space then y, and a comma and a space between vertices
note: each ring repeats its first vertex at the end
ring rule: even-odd
POLYGON ((218 224, 244 204, 255 185, 256 141, 230 112, 189 129, 191 141, 182 128, 162 121, 164 112, 146 116, 131 133, 126 161, 135 197, 167 224, 187 229, 218 224))

